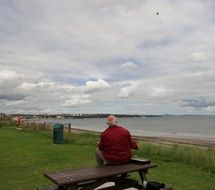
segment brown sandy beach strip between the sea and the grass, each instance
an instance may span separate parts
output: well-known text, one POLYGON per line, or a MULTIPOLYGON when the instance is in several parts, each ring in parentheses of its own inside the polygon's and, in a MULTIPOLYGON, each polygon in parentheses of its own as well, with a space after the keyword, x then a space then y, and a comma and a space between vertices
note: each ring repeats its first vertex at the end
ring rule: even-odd
MULTIPOLYGON (((85 129, 71 128, 71 132, 81 133, 81 132, 93 132, 100 134, 98 131, 91 131, 85 129)), ((215 139, 188 139, 188 138, 176 138, 176 137, 144 137, 144 136, 133 136, 135 139, 155 144, 164 145, 190 145, 190 146, 200 146, 200 147, 215 147, 215 139)))

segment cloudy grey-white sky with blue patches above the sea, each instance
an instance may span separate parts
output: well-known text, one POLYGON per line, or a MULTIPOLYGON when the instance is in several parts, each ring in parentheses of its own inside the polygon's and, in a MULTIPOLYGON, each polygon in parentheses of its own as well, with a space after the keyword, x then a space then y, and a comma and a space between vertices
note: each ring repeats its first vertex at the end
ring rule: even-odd
POLYGON ((215 1, 0 0, 0 112, 215 114, 215 1))

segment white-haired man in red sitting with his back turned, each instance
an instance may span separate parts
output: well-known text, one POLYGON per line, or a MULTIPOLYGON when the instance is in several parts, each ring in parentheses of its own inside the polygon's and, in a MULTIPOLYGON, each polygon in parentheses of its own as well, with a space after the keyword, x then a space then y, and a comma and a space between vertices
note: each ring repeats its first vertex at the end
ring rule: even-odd
POLYGON ((131 149, 139 149, 130 132, 117 125, 114 115, 107 117, 108 128, 102 132, 96 150, 97 165, 125 164, 132 158, 131 149))

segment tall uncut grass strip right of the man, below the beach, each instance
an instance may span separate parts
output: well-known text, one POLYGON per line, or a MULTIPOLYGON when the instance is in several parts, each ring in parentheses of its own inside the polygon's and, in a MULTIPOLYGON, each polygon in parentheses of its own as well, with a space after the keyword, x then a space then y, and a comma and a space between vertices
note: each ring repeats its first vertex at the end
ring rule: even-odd
POLYGON ((215 148, 144 143, 138 156, 159 158, 165 162, 179 162, 196 168, 201 168, 215 174, 215 148))

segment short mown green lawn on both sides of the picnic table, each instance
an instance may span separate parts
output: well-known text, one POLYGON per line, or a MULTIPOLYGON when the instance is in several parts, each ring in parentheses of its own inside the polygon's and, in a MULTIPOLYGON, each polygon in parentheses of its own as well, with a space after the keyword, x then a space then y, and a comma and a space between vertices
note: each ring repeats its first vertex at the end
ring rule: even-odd
MULTIPOLYGON (((94 166, 97 140, 96 134, 72 134, 56 145, 51 131, 0 128, 0 189, 36 189, 52 184, 43 177, 45 171, 94 166)), ((158 167, 150 170, 150 180, 170 184, 174 190, 214 190, 215 174, 159 156, 152 161, 158 167)))

